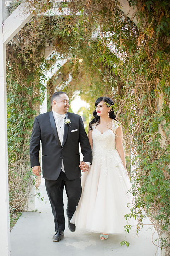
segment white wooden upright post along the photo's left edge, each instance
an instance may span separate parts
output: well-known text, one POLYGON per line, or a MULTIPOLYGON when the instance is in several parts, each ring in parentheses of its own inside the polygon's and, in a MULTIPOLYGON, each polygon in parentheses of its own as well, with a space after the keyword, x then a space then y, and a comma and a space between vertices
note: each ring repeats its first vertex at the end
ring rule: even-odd
POLYGON ((5 1, 0 0, 0 250, 10 256, 10 215, 8 192, 7 102, 6 102, 6 49, 3 43, 3 15, 5 1))

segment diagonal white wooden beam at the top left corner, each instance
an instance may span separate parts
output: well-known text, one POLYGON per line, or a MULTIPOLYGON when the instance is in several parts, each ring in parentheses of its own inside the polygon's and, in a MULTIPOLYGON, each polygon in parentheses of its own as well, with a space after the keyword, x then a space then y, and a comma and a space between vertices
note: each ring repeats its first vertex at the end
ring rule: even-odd
POLYGON ((15 11, 4 21, 3 43, 6 45, 12 37, 30 20, 32 12, 26 2, 22 2, 15 11))

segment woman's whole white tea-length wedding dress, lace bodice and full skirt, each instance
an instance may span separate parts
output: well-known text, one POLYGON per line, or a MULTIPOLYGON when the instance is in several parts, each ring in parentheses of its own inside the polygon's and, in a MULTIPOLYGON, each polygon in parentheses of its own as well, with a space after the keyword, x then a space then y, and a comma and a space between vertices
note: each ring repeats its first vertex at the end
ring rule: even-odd
POLYGON ((112 119, 112 129, 103 134, 93 126, 93 162, 82 175, 82 196, 71 223, 90 232, 120 234, 130 210, 131 183, 115 148, 115 131, 120 123, 112 119))

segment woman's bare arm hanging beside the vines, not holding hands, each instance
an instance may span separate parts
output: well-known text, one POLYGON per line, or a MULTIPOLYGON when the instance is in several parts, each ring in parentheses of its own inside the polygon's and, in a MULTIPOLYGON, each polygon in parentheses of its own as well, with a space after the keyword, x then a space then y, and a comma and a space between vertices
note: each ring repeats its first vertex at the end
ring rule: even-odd
POLYGON ((119 126, 116 129, 116 149, 121 157, 121 160, 123 162, 125 170, 127 170, 126 169, 125 151, 124 151, 122 140, 123 140, 123 132, 122 132, 121 126, 119 126))

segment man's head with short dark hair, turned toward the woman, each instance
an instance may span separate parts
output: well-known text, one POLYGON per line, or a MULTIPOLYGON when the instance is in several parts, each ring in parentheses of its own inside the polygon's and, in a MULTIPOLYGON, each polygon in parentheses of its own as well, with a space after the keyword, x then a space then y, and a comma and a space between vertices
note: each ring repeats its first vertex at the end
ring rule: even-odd
POLYGON ((53 111, 59 114, 66 114, 69 110, 69 98, 66 94, 61 94, 57 100, 53 101, 52 108, 53 111))

